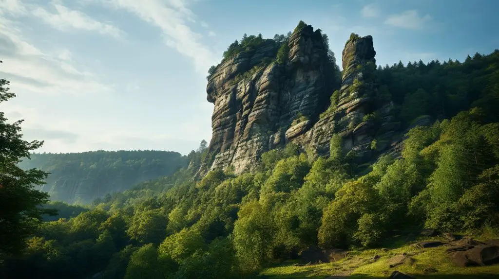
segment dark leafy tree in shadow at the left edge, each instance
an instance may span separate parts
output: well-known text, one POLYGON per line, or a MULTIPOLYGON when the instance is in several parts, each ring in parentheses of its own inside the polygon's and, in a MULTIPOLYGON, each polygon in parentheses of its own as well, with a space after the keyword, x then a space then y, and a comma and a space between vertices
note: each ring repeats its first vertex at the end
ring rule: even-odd
MULTIPOLYGON (((8 85, 7 80, 0 79, 0 103, 15 97, 8 85)), ((0 257, 3 253, 20 252, 24 238, 35 231, 41 215, 55 213, 38 206, 48 201, 48 194, 34 189, 34 186, 44 184, 47 173, 35 168, 22 170, 17 166, 21 158, 29 158, 30 150, 43 144, 42 141, 22 139, 22 121, 9 124, 0 112, 0 257)))

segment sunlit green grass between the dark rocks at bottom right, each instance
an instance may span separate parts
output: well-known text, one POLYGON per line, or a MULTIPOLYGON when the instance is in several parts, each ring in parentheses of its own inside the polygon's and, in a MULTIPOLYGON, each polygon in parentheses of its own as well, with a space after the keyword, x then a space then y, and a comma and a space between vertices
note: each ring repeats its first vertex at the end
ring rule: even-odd
MULTIPOLYGON (((497 237, 497 236, 496 236, 497 237)), ((487 237, 490 239, 491 237, 487 237)), ((476 239, 485 239, 477 237, 476 239)), ((274 267, 263 270, 260 278, 321 278, 338 276, 337 278, 388 278, 394 271, 423 279, 461 279, 461 278, 499 278, 499 265, 484 267, 459 267, 445 253, 449 246, 444 245, 437 248, 419 249, 412 246, 418 241, 440 240, 440 237, 407 237, 398 236, 391 240, 392 248, 387 252, 382 249, 352 250, 347 258, 328 264, 311 266, 293 266, 294 262, 288 261, 274 267), (413 263, 405 263, 400 266, 390 268, 388 260, 395 255, 408 254, 413 263), (372 260, 374 256, 381 258, 372 260), (425 269, 433 268, 438 272, 425 274, 425 269)), ((333 277, 334 278, 334 277, 333 277)))

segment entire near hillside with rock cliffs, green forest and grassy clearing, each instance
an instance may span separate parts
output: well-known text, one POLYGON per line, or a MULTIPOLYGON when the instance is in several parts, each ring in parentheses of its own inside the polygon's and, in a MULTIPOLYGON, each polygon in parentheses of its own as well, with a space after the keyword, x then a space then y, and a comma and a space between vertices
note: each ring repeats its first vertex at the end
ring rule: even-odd
POLYGON ((245 34, 209 71, 189 167, 32 221, 0 277, 499 274, 499 50, 380 67, 375 38, 344 39, 340 72, 302 21, 245 34))

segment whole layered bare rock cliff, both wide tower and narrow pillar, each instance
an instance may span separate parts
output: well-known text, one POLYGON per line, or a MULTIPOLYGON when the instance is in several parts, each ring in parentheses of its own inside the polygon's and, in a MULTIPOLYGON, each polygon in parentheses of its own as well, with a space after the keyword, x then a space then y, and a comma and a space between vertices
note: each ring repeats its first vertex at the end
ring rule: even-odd
POLYGON ((329 107, 332 92, 326 84, 331 77, 325 76, 327 50, 320 32, 303 27, 291 35, 288 46, 283 64, 255 67, 275 57, 275 43, 266 40, 256 50, 225 61, 210 77, 208 101, 215 107, 209 152, 214 160, 205 171, 229 165, 236 173, 248 171, 263 152, 288 142, 328 155, 335 133, 343 138, 344 152, 354 152, 359 164, 400 143, 400 123, 392 122, 389 114, 393 103, 376 86, 371 36, 353 36, 346 42, 341 85, 329 107), (248 71, 249 78, 235 82, 248 71))

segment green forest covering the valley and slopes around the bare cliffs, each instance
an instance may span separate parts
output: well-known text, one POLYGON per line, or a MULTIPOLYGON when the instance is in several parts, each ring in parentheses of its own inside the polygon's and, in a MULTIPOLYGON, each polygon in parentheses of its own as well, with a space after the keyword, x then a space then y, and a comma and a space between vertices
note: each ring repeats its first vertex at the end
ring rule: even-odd
MULTIPOLYGON (((224 59, 238 51, 239 42, 224 59)), ((20 122, 8 124, 0 113, 0 277, 250 278, 310 246, 377 248, 423 228, 499 235, 499 50, 463 62, 399 62, 372 74, 379 98, 393 101, 393 116, 405 126, 434 120, 409 130, 399 157, 385 154, 366 171, 334 136, 328 157, 289 143, 264 153, 254 173, 228 168, 194 179, 205 142, 189 154, 190 167, 85 207, 48 203, 34 186, 46 172, 85 173, 93 164, 114 176, 129 161, 88 153, 102 159, 80 168, 80 159, 61 166, 58 155, 30 155, 42 142, 23 141, 20 122), (29 156, 45 156, 38 159, 44 163, 19 168, 29 156)), ((2 102, 14 96, 6 86, 0 80, 2 102)), ((131 160, 138 173, 141 164, 161 169, 153 159, 131 160)))

